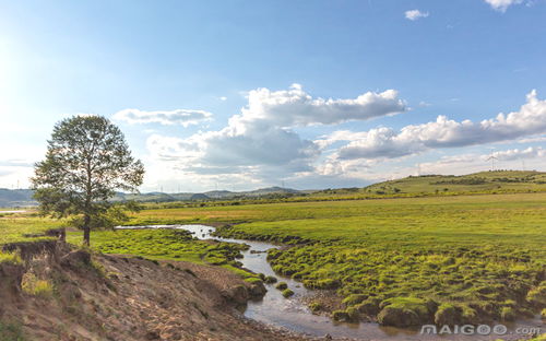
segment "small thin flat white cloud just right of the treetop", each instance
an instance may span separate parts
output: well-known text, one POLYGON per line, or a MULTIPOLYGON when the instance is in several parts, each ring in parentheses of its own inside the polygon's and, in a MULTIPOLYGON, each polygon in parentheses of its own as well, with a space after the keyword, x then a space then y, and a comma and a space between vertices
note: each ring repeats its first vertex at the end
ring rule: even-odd
POLYGON ((164 126, 180 125, 188 127, 211 120, 212 114, 204 110, 176 109, 170 111, 143 111, 123 109, 114 114, 114 119, 129 124, 161 124, 164 126))

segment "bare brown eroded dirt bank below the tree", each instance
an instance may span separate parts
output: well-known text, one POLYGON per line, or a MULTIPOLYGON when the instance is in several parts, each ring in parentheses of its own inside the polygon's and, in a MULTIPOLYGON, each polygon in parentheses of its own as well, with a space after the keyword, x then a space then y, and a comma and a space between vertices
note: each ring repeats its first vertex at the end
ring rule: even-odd
POLYGON ((25 258, 0 263, 0 331, 26 340, 307 340, 245 319, 236 308, 259 290, 222 268, 60 242, 25 258))

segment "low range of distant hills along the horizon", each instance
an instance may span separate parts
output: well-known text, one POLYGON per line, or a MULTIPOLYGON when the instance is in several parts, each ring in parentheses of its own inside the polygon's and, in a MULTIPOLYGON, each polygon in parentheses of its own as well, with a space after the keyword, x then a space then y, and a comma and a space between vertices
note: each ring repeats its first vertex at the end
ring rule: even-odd
MULTIPOLYGON (((472 193, 472 192, 511 192, 511 191, 546 191, 546 173, 535 170, 495 170, 480 172, 462 176, 423 175, 408 176, 402 179, 383 181, 365 188, 336 188, 323 190, 296 190, 283 187, 266 187, 250 191, 211 190, 203 193, 116 193, 112 201, 138 202, 173 202, 173 201, 210 201, 242 200, 256 198, 283 199, 307 196, 306 200, 329 200, 335 198, 377 198, 419 196, 430 193, 472 193), (313 199, 314 198, 314 199, 313 199)), ((35 205, 29 189, 1 189, 0 208, 35 205)))

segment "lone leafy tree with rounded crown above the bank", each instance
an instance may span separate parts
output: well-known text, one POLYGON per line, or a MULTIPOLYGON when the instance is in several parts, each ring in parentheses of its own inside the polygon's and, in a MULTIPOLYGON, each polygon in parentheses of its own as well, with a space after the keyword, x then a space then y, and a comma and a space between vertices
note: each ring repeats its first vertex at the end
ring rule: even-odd
MULTIPOLYGON (((102 116, 75 116, 58 122, 46 160, 35 164, 34 197, 45 214, 75 216, 90 245, 92 227, 112 215, 116 190, 136 192, 144 166, 131 156, 121 130, 102 116)), ((120 213, 114 210, 114 213, 120 213)))

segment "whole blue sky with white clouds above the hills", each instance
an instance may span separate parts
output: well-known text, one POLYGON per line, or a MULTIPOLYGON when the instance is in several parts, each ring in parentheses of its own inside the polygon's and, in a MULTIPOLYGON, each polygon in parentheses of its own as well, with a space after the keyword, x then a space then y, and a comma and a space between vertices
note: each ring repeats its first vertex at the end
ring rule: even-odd
POLYGON ((121 128, 141 191, 546 170, 545 17, 546 0, 0 0, 0 188, 26 188, 82 114, 121 128))

